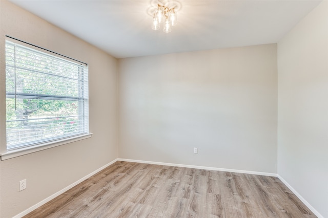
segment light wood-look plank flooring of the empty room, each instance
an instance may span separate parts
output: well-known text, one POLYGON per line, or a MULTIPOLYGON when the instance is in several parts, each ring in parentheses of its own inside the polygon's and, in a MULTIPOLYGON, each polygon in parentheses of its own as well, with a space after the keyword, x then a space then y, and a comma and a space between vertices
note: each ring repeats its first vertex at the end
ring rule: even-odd
POLYGON ((25 217, 316 217, 278 178, 118 161, 25 217))

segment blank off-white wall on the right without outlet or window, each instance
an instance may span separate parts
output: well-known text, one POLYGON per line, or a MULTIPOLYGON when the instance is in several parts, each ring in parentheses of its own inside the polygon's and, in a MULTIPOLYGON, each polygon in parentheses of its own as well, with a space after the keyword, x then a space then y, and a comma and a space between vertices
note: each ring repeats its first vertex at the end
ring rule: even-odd
POLYGON ((278 174, 328 217, 328 2, 278 43, 278 174))

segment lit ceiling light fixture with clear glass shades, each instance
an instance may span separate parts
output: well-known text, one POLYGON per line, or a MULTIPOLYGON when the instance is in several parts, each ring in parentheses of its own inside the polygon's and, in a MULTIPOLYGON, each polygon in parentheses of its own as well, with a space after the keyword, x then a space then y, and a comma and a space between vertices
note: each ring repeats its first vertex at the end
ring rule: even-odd
POLYGON ((177 23, 174 8, 170 9, 166 6, 158 4, 157 10, 153 15, 152 29, 158 30, 159 24, 162 22, 164 23, 163 31, 165 33, 171 32, 171 26, 175 26, 177 23))

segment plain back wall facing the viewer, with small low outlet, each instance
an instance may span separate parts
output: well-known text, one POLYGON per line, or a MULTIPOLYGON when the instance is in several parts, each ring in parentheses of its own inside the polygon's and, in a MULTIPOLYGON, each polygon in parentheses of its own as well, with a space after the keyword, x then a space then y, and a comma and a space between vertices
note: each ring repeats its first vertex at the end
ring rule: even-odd
POLYGON ((276 44, 125 58, 118 69, 119 158, 277 172, 276 44))

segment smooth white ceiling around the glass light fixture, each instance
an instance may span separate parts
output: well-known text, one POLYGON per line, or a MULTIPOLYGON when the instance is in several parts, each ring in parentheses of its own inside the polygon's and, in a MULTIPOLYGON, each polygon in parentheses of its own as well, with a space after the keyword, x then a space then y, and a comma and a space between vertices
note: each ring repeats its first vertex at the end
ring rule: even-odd
POLYGON ((116 58, 278 42, 320 1, 11 0, 116 58), (160 2, 178 8, 171 33, 152 30, 160 2))

